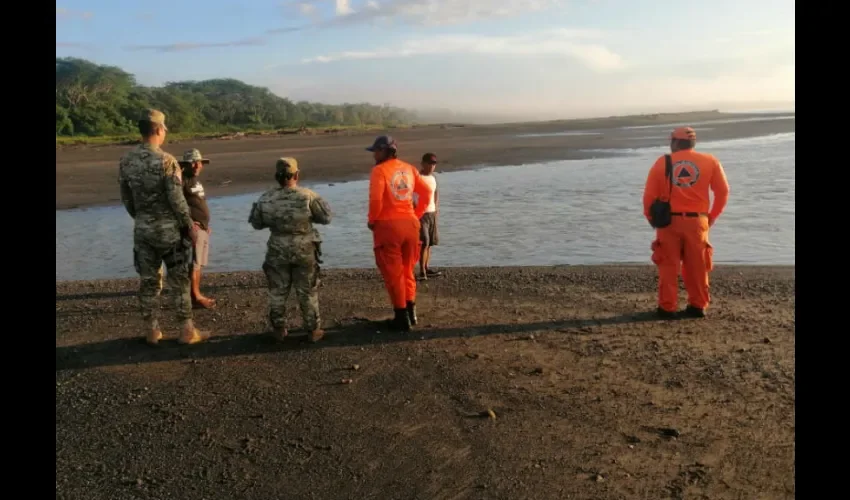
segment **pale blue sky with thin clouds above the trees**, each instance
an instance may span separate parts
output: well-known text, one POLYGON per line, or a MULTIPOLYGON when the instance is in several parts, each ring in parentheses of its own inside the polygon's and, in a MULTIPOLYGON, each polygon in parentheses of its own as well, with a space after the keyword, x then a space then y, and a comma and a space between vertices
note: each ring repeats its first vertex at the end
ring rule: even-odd
POLYGON ((56 56, 144 85, 522 118, 793 103, 792 0, 60 0, 56 56))

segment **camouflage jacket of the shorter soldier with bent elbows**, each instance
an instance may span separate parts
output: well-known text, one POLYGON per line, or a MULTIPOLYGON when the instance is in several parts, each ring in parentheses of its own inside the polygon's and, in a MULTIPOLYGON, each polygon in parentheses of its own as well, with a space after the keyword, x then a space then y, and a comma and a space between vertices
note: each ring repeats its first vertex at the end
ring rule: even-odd
POLYGON ((275 188, 263 193, 251 207, 248 222, 254 229, 271 230, 269 250, 307 253, 322 241, 313 224, 330 224, 331 209, 315 192, 302 187, 275 188))

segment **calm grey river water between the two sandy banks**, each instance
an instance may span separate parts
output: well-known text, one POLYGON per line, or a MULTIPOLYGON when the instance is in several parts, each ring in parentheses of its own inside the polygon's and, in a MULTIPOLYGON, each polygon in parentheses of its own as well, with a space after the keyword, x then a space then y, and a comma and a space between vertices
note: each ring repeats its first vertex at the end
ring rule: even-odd
MULTIPOLYGON (((700 143, 731 184, 712 229, 720 263, 794 264, 795 134, 700 143)), ((435 267, 650 263, 653 230, 641 197, 666 147, 618 158, 485 168, 438 175, 441 246, 435 267)), ((366 181, 310 186, 335 213, 320 228, 325 267, 374 265, 366 181)), ((268 231, 247 223, 259 193, 212 198, 209 271, 260 269, 268 231)), ((56 212, 56 279, 135 276, 132 220, 123 207, 56 212)))

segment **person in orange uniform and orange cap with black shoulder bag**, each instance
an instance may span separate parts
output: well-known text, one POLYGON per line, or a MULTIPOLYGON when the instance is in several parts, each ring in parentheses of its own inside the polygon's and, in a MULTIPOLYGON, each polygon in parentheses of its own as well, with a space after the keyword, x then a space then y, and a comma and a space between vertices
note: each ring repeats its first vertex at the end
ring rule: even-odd
POLYGON ((723 213, 729 200, 729 182, 720 161, 713 155, 694 150, 696 132, 677 128, 670 135, 672 175, 666 174, 661 156, 649 170, 643 192, 643 212, 650 218, 656 200, 670 203, 670 224, 656 229, 652 262, 658 267, 658 309, 662 318, 676 317, 679 302, 679 272, 688 293, 685 317, 705 317, 711 300, 709 272, 714 267, 714 249, 708 230, 723 213), (714 193, 711 205, 709 191, 714 193))

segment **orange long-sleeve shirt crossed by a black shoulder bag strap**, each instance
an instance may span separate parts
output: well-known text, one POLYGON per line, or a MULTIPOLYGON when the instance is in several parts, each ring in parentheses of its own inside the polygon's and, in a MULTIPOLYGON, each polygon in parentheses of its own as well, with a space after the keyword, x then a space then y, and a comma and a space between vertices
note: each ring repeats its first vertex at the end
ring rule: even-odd
POLYGON ((673 212, 707 213, 712 220, 720 217, 729 201, 729 181, 726 180, 726 172, 720 161, 713 155, 693 149, 676 151, 671 156, 672 192, 664 174, 665 161, 662 155, 649 169, 643 191, 643 215, 649 219, 650 205, 660 198, 670 200, 673 212), (713 205, 709 191, 714 193, 713 205))

